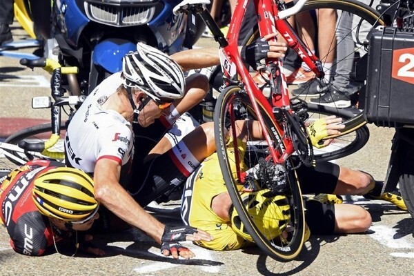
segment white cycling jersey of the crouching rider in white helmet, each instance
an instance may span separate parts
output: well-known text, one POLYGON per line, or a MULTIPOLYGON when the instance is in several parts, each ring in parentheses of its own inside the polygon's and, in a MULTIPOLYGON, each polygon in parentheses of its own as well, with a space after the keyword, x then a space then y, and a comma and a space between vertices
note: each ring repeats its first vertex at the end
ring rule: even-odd
POLYGON ((131 124, 118 112, 101 109, 101 103, 121 83, 121 72, 103 80, 70 121, 65 137, 66 159, 74 168, 92 173, 101 158, 113 159, 121 166, 132 161, 131 124))

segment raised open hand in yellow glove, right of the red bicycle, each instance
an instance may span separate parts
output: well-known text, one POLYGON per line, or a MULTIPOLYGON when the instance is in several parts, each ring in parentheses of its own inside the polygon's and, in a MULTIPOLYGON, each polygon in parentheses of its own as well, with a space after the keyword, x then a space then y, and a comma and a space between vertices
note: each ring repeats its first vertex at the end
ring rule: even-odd
POLYGON ((328 116, 313 122, 308 126, 308 133, 311 137, 313 146, 316 148, 323 148, 331 144, 333 139, 324 139, 331 135, 340 135, 340 130, 345 127, 342 123, 342 118, 335 116, 328 116))

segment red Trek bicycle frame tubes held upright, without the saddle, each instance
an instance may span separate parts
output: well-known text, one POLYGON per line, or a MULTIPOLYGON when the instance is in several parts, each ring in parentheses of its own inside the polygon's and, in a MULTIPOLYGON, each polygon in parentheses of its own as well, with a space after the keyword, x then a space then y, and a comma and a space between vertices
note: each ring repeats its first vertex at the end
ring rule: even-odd
MULTIPOLYGON (((223 52, 224 60, 221 59, 221 67, 224 69, 225 75, 231 79, 236 71, 242 79, 243 83, 246 86, 246 92, 250 97, 250 101, 255 108, 257 114, 257 120, 260 122, 262 126, 264 126, 264 119, 259 110, 258 104, 268 112, 268 114, 273 115, 273 108, 284 108, 288 110, 288 112, 292 112, 290 109, 290 99, 289 99, 289 92, 286 85, 286 77, 284 75, 282 59, 266 59, 266 66, 270 65, 271 63, 277 63, 276 70, 270 70, 269 79, 270 79, 270 86, 273 86, 273 91, 271 92, 270 101, 266 99, 262 90, 259 89, 253 77, 251 77, 250 73, 248 72, 248 68, 244 66, 242 58, 240 57, 239 50, 237 48, 238 44, 237 41, 239 39, 239 27, 242 25, 242 20, 244 18, 244 14, 246 13, 246 7, 250 0, 243 0, 238 1, 237 6, 235 8, 235 12, 233 14, 232 20, 230 22, 230 28, 228 30, 227 41, 228 45, 224 48, 221 48, 223 52), (235 70, 232 66, 235 65, 235 70), (279 80, 279 81, 278 81, 279 80)), ((286 39, 288 46, 295 50, 299 57, 315 72, 317 77, 323 77, 324 72, 322 71, 322 66, 317 66, 318 59, 313 55, 313 53, 304 46, 304 43, 297 37, 295 32, 293 31, 292 27, 287 23, 286 20, 281 19, 279 17, 279 9, 275 0, 254 0, 255 1, 255 8, 257 11, 257 22, 259 24, 259 32, 261 37, 265 37, 267 34, 274 34, 278 32, 282 34, 284 39, 286 39)), ((305 0, 306 1, 306 0, 305 0)), ((302 3, 304 2, 302 0, 302 3)), ((274 38, 273 40, 276 40, 274 38)), ((273 116, 274 118, 274 116, 273 116)), ((275 120, 276 121, 276 120, 275 120)), ((234 124, 234 122, 232 122, 234 124)), ((295 152, 295 148, 293 146, 293 142, 285 135, 284 126, 281 124, 274 124, 277 128, 277 132, 279 132, 280 137, 283 137, 283 144, 284 144, 284 152, 282 155, 277 153, 277 150, 273 148, 273 143, 271 141, 270 136, 263 132, 264 138, 266 139, 269 149, 270 149, 270 156, 273 158, 275 164, 282 164, 286 159, 295 152)), ((262 128, 264 130, 264 128, 262 128)), ((235 137, 233 137, 235 138, 235 137)), ((237 139, 233 139, 233 141, 237 141, 237 139)), ((236 161, 236 164, 239 164, 236 161)))

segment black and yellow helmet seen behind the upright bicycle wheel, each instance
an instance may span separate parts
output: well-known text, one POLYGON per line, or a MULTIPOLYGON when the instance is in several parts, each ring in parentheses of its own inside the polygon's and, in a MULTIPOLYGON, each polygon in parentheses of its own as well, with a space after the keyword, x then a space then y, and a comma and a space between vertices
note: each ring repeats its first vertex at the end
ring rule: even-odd
MULTIPOLYGON (((241 195, 244 206, 248 209, 248 215, 259 231, 267 239, 274 239, 282 234, 290 221, 290 206, 284 195, 273 195, 268 189, 241 195)), ((254 242, 242 220, 234 209, 231 214, 231 228, 244 239, 254 242)))

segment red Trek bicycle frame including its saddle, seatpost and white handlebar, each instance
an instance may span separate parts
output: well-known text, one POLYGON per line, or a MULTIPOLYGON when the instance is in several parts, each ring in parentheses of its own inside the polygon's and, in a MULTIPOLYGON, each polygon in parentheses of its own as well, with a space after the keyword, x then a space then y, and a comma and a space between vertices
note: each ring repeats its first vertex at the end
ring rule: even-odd
MULTIPOLYGON (((175 12, 177 12, 177 10, 191 10, 196 14, 200 14, 208 28, 213 32, 215 40, 219 42, 221 46, 221 69, 226 77, 226 84, 240 84, 239 81, 233 80, 236 79, 237 74, 242 77, 244 90, 246 90, 246 93, 250 98, 255 114, 257 115, 257 121, 259 121, 259 124, 262 126, 264 139, 270 150, 270 156, 268 158, 272 158, 275 164, 283 164, 288 157, 295 152, 295 145, 293 144, 292 138, 289 135, 286 135, 286 130, 294 128, 296 131, 298 129, 299 131, 302 131, 300 130, 302 126, 300 126, 301 128, 292 126, 293 124, 298 123, 293 119, 293 110, 290 108, 289 92, 286 85, 282 59, 265 59, 265 66, 263 69, 260 69, 260 72, 266 71, 269 79, 268 83, 271 88, 270 97, 266 98, 262 90, 257 86, 257 83, 253 80, 248 68, 246 68, 240 57, 238 49, 239 30, 240 26, 242 26, 242 20, 244 19, 249 1, 251 0, 237 1, 226 39, 224 39, 222 32, 206 10, 206 5, 209 3, 209 0, 184 0, 175 7, 174 10, 175 12), (264 128, 266 125, 262 114, 259 112, 259 105, 275 122, 275 124, 273 124, 274 128, 272 127, 270 131, 273 133, 277 132, 279 137, 282 137, 282 141, 277 141, 282 148, 282 152, 278 152, 278 150, 275 149, 272 138, 264 128), (282 117, 284 116, 287 119, 276 119, 275 113, 277 112, 282 113, 282 117)), ((295 5, 280 11, 278 6, 280 4, 279 0, 253 1, 257 12, 257 23, 260 36, 265 37, 268 34, 275 34, 278 32, 287 41, 288 46, 295 50, 309 68, 315 72, 317 77, 324 77, 322 63, 310 50, 308 50, 299 37, 297 37, 293 28, 285 20, 287 17, 299 12, 307 0, 298 0, 295 5)), ((273 38, 273 40, 276 39, 276 37, 273 38)), ((231 112, 233 112, 231 106, 228 108, 228 112, 230 112, 230 118, 233 118, 233 121, 230 121, 230 124, 233 126, 233 129, 235 129, 235 117, 231 115, 231 112)), ((233 132, 233 136, 234 135, 235 133, 233 132)), ((278 135, 275 135, 275 137, 278 137, 278 135)), ((235 148, 237 148, 237 139, 235 139, 235 137, 233 137, 233 142, 235 143, 235 148)), ((238 156, 236 156, 235 163, 237 171, 240 172, 238 156)), ((239 175, 239 179, 243 179, 242 175, 239 175)))

